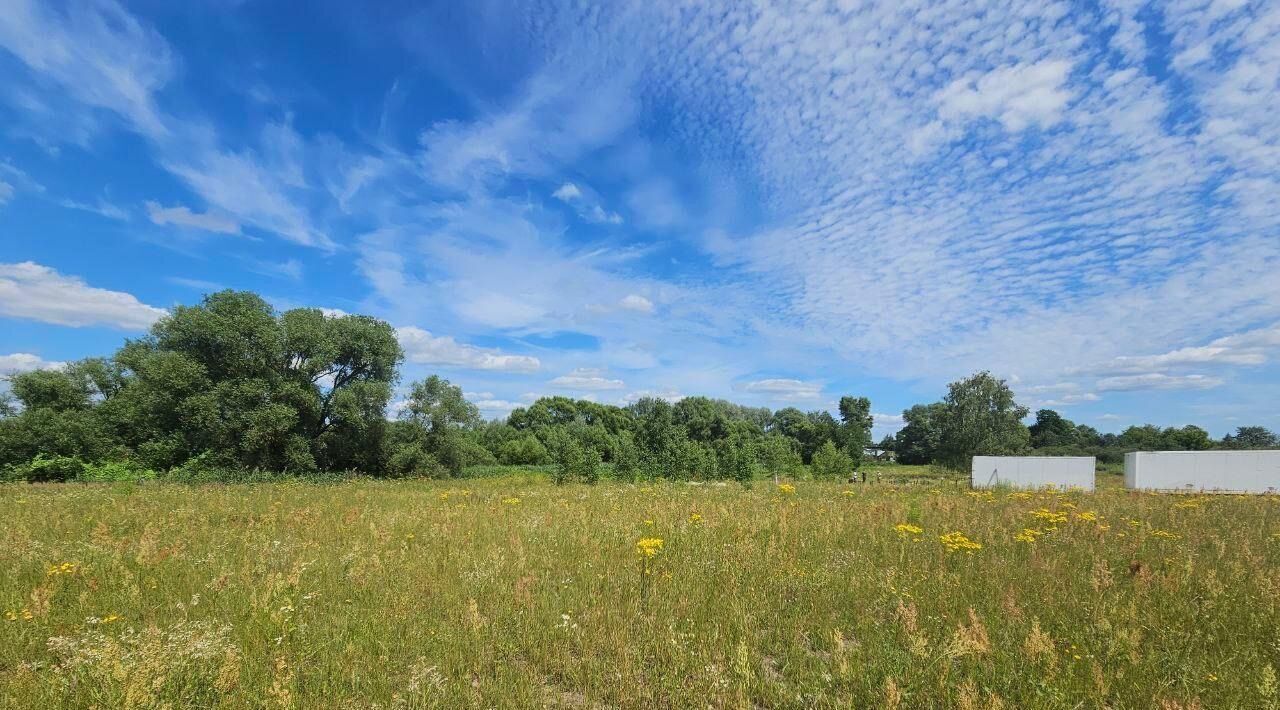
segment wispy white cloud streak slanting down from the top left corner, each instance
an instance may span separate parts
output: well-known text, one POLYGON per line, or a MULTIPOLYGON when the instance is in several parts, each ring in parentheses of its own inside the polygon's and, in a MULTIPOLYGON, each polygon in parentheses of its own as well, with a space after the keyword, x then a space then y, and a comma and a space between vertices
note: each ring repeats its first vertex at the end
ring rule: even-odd
MULTIPOLYGON (((146 138, 157 161, 207 205, 292 242, 333 247, 305 206, 316 192, 301 173, 303 146, 292 128, 269 123, 259 146, 229 148, 204 116, 168 111, 160 93, 178 60, 159 32, 119 4, 74 3, 60 10, 18 0, 0 14, 0 47, 26 65, 32 83, 59 86, 52 99, 78 107, 87 124, 114 116, 146 138)), ((193 214, 161 212, 161 219, 197 226, 193 214)), ((225 232, 228 224, 205 220, 201 228, 225 232)))

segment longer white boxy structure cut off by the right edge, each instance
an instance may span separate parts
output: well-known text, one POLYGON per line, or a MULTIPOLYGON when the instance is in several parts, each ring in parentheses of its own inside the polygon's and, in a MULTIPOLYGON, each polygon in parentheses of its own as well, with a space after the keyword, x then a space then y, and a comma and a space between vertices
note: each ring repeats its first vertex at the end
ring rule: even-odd
POLYGON ((1135 490, 1280 493, 1280 450, 1130 452, 1124 485, 1135 490))

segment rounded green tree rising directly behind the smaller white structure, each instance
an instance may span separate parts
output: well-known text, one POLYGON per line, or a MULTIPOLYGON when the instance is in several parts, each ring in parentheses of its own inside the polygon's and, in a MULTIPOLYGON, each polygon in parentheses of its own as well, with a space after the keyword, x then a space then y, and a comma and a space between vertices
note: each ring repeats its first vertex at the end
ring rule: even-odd
POLYGON ((951 383, 942 416, 940 461, 964 469, 977 454, 1016 454, 1027 449, 1030 434, 1023 423, 1027 408, 1014 402, 1014 391, 989 372, 951 383))

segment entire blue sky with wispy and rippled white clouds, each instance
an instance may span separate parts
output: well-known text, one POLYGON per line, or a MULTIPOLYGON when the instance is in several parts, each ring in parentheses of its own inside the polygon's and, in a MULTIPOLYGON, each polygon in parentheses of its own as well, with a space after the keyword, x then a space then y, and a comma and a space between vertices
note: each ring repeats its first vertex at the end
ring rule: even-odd
POLYGON ((1280 3, 0 0, 0 371, 248 289, 540 395, 1280 429, 1280 3))

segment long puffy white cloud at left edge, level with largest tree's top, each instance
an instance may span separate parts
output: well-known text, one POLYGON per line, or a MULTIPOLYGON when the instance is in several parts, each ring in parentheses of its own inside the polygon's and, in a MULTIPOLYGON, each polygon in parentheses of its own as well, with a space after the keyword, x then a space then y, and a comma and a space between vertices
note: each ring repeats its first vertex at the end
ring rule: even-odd
POLYGON ((40 264, 0 264, 0 316, 146 330, 164 315, 128 293, 93 288, 40 264))

